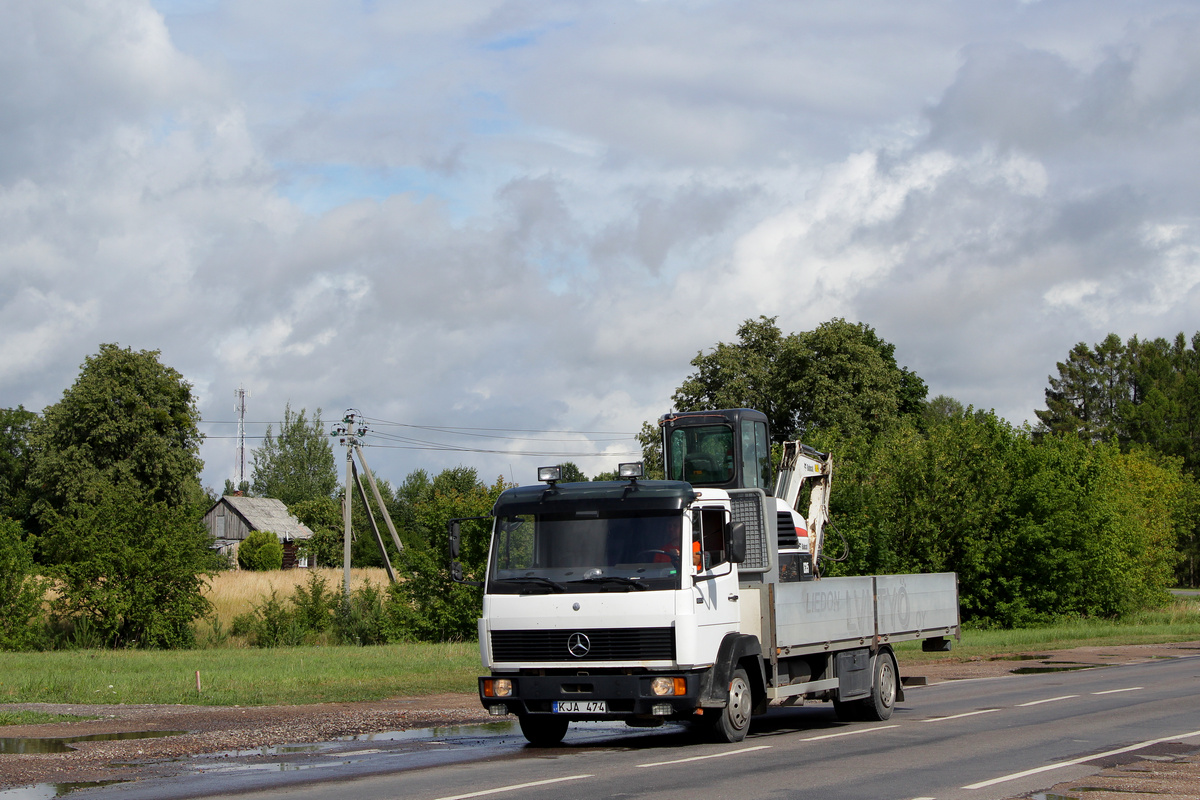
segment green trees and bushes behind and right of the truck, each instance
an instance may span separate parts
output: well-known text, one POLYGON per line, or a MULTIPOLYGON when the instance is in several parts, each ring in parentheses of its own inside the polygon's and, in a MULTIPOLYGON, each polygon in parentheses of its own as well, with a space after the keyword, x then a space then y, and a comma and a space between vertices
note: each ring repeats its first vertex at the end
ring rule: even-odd
MULTIPOLYGON (((694 360, 677 410, 758 408, 778 441, 835 453, 823 575, 954 571, 964 619, 1120 615, 1195 585, 1200 335, 1079 344, 1036 427, 926 399, 868 325, 746 320, 694 360)), ((647 459, 656 432, 643 427, 647 459)))

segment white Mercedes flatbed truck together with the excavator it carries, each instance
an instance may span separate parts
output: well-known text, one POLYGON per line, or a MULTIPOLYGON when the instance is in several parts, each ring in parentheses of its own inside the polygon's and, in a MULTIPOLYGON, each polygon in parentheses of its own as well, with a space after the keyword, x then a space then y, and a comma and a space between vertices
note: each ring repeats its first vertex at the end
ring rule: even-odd
POLYGON ((773 700, 890 717, 904 699, 892 645, 949 649, 955 575, 821 578, 827 455, 790 443, 770 486, 758 411, 661 426, 676 480, 623 464, 628 480, 560 483, 544 468, 545 483, 500 494, 479 619, 484 706, 542 746, 584 720, 686 721, 740 741, 773 700), (808 516, 792 507, 802 487, 808 516))

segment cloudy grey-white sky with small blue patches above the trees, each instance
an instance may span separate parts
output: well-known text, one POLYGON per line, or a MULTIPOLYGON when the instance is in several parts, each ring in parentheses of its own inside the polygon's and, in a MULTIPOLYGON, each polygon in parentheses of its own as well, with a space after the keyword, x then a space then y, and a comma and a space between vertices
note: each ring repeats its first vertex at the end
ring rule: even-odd
POLYGON ((632 461, 738 325, 833 318, 1036 421, 1200 329, 1200 2, 0 0, 0 407, 101 343, 206 486, 286 404, 371 467, 632 461))

